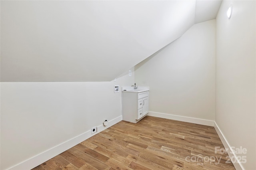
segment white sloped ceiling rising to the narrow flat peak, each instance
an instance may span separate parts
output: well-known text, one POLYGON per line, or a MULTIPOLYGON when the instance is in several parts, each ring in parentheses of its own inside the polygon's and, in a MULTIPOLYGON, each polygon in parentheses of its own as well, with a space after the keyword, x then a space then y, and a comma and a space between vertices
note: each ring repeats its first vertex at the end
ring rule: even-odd
POLYGON ((111 81, 214 19, 214 2, 1 0, 1 81, 111 81))

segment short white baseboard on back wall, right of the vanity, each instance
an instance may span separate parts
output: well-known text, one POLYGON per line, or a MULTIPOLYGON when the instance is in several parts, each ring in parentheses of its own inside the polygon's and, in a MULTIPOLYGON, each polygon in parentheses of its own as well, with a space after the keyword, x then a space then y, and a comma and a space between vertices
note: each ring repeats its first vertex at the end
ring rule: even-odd
POLYGON ((207 125, 211 127, 214 126, 214 121, 210 121, 206 119, 197 119, 192 117, 184 117, 184 116, 170 115, 166 113, 157 113, 157 112, 148 112, 148 116, 160 117, 164 119, 172 119, 175 121, 182 121, 182 122, 188 122, 188 123, 196 123, 199 125, 207 125))

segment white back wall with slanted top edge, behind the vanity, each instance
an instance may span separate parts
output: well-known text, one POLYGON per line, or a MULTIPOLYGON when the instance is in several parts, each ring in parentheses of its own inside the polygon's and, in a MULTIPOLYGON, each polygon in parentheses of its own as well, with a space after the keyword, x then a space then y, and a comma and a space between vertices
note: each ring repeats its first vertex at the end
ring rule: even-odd
POLYGON ((195 24, 182 37, 136 65, 135 82, 150 87, 150 112, 213 123, 215 20, 195 24))

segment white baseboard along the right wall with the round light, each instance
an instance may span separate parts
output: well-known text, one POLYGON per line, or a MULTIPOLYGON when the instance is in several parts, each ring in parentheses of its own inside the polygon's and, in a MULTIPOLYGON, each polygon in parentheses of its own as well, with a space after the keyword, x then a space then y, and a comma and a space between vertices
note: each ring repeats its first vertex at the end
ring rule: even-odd
MULTIPOLYGON (((244 170, 244 167, 242 166, 242 164, 240 163, 240 161, 238 161, 236 154, 233 152, 233 150, 231 149, 230 144, 228 143, 228 141, 226 140, 225 136, 223 135, 222 131, 220 130, 220 128, 218 127, 218 125, 216 124, 216 122, 214 122, 214 128, 216 130, 216 132, 218 133, 221 142, 223 143, 225 148, 228 148, 228 156, 230 158, 236 158, 236 162, 232 162, 236 168, 236 170, 244 170), (232 151, 232 152, 230 152, 232 151)), ((231 159, 233 160, 233 159, 231 159)))

